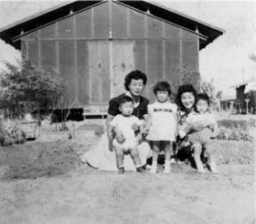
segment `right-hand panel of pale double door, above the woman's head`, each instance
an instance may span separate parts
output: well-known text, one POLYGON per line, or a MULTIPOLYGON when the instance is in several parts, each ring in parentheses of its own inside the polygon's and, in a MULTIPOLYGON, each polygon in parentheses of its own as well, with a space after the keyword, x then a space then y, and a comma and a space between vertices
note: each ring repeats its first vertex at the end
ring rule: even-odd
POLYGON ((124 77, 134 69, 133 42, 113 42, 113 77, 112 95, 124 93, 124 77))

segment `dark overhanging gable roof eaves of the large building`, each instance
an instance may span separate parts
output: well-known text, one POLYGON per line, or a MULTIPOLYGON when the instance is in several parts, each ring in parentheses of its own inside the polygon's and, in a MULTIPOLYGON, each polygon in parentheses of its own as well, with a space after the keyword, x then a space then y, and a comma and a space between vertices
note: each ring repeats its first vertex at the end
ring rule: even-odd
MULTIPOLYGON (((14 48, 20 49, 20 42, 13 42, 13 38, 19 36, 21 30, 23 32, 28 32, 32 29, 45 26, 54 20, 68 16, 71 10, 74 13, 79 12, 87 7, 91 7, 106 1, 108 0, 68 1, 66 3, 58 4, 55 7, 36 13, 28 18, 21 19, 18 22, 1 28, 0 38, 3 39, 4 42, 11 44, 14 48)), ((194 19, 183 13, 176 12, 156 3, 144 0, 116 0, 115 2, 135 8, 140 12, 150 12, 151 15, 156 16, 159 19, 172 22, 173 24, 184 27, 194 33, 196 32, 197 28, 199 35, 206 37, 204 40, 200 39, 200 50, 225 32, 219 27, 213 27, 212 25, 204 23, 203 21, 194 19)))

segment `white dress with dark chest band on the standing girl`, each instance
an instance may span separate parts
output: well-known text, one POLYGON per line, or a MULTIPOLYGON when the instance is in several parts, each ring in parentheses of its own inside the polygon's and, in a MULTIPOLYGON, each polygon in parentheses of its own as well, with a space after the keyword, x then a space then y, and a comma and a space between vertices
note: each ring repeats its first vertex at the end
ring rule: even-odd
POLYGON ((149 141, 175 141, 177 135, 177 105, 170 102, 148 104, 149 141))

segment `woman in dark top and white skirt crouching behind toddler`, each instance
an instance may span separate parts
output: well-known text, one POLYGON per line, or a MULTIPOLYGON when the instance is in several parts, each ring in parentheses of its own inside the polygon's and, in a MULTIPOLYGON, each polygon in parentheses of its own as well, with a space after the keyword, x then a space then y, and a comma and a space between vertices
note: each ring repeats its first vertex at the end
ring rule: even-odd
MULTIPOLYGON (((129 96, 133 100, 134 110, 132 115, 140 120, 147 120, 148 118, 148 99, 141 97, 141 94, 147 84, 147 76, 140 70, 135 70, 128 73, 124 79, 124 88, 127 90, 124 94, 110 99, 108 104, 107 117, 107 135, 102 135, 100 142, 94 145, 91 151, 87 152, 83 160, 90 166, 100 168, 101 170, 116 170, 116 156, 112 150, 112 142, 114 136, 116 141, 122 143, 125 141, 125 136, 117 127, 113 128, 110 125, 111 120, 117 114, 120 114, 119 101, 124 96, 129 96)), ((139 128, 136 124, 132 125, 135 134, 138 133, 139 128)), ((147 158, 150 155, 150 147, 148 142, 142 141, 138 145, 139 156, 142 165, 146 165, 147 158)), ((124 159, 125 170, 135 170, 132 159, 126 157, 124 159)))

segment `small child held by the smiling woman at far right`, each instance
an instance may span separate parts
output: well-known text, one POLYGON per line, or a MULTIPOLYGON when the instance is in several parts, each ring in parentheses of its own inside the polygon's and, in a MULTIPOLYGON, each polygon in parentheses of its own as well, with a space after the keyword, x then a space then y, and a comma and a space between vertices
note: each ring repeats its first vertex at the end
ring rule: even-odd
POLYGON ((211 138, 216 137, 218 125, 212 114, 209 112, 210 98, 206 94, 198 94, 196 97, 196 112, 188 115, 186 122, 180 128, 180 138, 188 137, 188 142, 192 143, 194 149, 194 159, 199 172, 205 173, 200 155, 204 147, 209 159, 209 166, 212 173, 218 173, 212 149, 211 138), (195 130, 195 124, 200 123, 200 130, 195 130))

